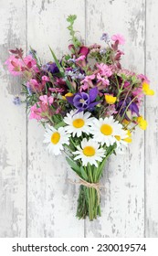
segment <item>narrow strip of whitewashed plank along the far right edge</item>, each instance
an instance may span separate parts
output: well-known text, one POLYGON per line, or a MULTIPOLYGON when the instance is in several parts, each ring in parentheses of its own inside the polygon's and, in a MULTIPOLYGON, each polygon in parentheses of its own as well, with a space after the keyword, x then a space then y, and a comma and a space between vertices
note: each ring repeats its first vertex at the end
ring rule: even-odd
POLYGON ((157 16, 158 2, 146 1, 146 74, 151 78, 155 96, 146 97, 146 120, 149 127, 145 134, 145 236, 158 237, 158 88, 157 88, 157 16))

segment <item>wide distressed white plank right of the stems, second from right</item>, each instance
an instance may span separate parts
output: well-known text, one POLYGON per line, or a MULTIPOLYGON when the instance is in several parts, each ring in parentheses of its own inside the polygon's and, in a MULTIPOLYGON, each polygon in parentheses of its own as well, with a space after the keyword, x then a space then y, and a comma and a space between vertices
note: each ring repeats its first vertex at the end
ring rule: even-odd
MULTIPOLYGON (((144 71, 144 0, 87 0, 87 41, 100 42, 103 32, 126 38, 123 66, 144 71)), ((143 237, 144 133, 137 131, 126 155, 113 155, 102 179, 102 217, 86 221, 87 237, 143 237)))

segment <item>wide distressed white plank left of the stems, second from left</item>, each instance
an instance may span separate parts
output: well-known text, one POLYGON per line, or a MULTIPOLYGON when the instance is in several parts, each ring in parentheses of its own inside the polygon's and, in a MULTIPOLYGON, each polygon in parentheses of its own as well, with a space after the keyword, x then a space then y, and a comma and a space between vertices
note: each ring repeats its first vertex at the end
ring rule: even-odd
MULTIPOLYGON (((84 37, 84 1, 27 1, 28 45, 37 49, 41 59, 51 60, 48 45, 58 57, 68 51, 69 14, 77 14, 77 29, 84 37)), ((44 129, 28 123, 28 236, 83 237, 84 220, 76 219, 79 187, 68 184, 75 175, 64 156, 48 155, 44 129)))

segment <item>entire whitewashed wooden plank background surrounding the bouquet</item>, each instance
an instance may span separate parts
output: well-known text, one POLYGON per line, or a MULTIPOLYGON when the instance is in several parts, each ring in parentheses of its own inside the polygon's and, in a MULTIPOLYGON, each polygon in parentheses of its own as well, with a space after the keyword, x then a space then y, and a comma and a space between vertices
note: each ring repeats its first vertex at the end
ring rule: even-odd
POLYGON ((50 45, 61 57, 66 17, 77 14, 87 44, 100 43, 102 32, 124 35, 124 65, 158 91, 157 10, 156 0, 0 0, 0 237, 158 237, 157 96, 144 103, 147 131, 106 166, 102 217, 78 220, 79 187, 67 181, 75 175, 64 157, 47 154, 43 128, 27 121, 25 106, 12 103, 20 80, 4 67, 9 48, 32 46, 47 61, 50 45))

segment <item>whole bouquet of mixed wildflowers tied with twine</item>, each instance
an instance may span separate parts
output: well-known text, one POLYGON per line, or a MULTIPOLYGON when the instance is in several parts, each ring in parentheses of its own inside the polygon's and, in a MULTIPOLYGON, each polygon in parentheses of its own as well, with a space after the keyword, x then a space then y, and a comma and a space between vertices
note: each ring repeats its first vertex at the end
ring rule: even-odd
MULTIPOLYGON (((31 48, 10 50, 9 71, 24 79, 23 93, 29 118, 45 128, 44 143, 51 155, 66 155, 77 174, 79 199, 77 217, 100 216, 100 178, 111 154, 132 142, 136 126, 146 129, 140 114, 144 94, 153 95, 146 76, 122 69, 121 35, 104 33, 98 44, 85 46, 73 28, 76 16, 68 16, 72 43, 69 53, 41 63, 31 48)), ((19 104, 16 96, 14 102, 19 104)))

